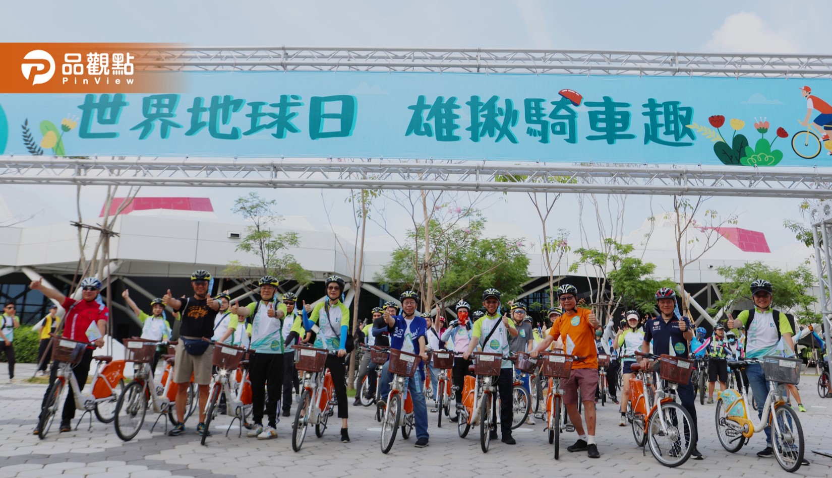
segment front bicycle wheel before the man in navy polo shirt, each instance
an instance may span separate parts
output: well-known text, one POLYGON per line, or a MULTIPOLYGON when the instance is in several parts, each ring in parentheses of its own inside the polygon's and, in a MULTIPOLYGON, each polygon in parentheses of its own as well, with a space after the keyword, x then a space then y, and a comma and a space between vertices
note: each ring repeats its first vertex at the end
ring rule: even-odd
POLYGON ((647 436, 656 461, 673 468, 691 457, 696 431, 691 414, 678 403, 667 402, 650 417, 647 436))

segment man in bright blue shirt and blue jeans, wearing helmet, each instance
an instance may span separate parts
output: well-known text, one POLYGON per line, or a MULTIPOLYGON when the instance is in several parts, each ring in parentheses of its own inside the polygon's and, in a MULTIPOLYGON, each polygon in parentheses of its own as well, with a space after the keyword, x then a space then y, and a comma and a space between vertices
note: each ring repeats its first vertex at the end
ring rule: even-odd
MULTIPOLYGON (((424 352, 424 347, 427 341, 425 333, 428 331, 428 323, 424 318, 416 315, 416 306, 418 303, 418 293, 412 290, 406 290, 399 296, 402 302, 402 314, 391 315, 390 309, 384 310, 384 322, 387 323, 388 332, 390 333, 390 348, 401 350, 402 352, 414 353, 422 357, 422 364, 428 360, 428 354, 424 352)), ((390 393, 390 382, 393 380, 392 374, 388 371, 390 362, 384 364, 381 368, 381 394, 380 400, 387 400, 390 393)), ((407 380, 408 393, 412 395, 414 402, 414 419, 416 421, 416 447, 424 448, 428 446, 428 406, 424 402, 422 395, 423 380, 414 377, 407 380)))

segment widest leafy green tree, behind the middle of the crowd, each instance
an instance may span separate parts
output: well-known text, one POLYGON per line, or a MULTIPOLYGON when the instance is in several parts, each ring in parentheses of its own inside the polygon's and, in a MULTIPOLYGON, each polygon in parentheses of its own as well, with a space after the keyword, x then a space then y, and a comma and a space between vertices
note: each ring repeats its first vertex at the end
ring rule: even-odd
POLYGON ((477 298, 489 287, 498 288, 503 292, 503 303, 508 302, 528 280, 526 251, 517 239, 483 238, 484 224, 483 219, 475 219, 450 229, 428 225, 433 244, 429 261, 424 258, 424 249, 414 244, 423 240, 423 227, 409 230, 405 243, 394 250, 376 279, 395 289, 418 288, 418 283, 427 282, 420 275, 429 273, 437 297, 425 303, 468 298, 476 306, 477 298))

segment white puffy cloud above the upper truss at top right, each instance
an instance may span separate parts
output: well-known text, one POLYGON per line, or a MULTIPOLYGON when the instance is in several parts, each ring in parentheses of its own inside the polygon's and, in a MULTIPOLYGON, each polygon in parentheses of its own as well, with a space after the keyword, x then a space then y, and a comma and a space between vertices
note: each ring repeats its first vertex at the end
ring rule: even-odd
POLYGON ((722 22, 716 32, 711 33, 702 50, 705 52, 753 52, 753 53, 794 53, 800 52, 798 35, 789 29, 776 30, 755 12, 734 13, 722 22))

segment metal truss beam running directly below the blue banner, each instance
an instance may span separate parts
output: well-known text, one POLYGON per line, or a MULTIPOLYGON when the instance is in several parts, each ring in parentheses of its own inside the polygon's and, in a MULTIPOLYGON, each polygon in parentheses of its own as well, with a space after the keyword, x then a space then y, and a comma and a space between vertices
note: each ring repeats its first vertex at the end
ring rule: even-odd
POLYGON ((0 183, 466 190, 829 199, 832 170, 438 160, 0 156, 0 183))

